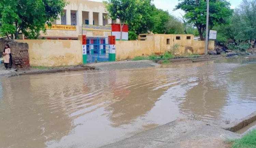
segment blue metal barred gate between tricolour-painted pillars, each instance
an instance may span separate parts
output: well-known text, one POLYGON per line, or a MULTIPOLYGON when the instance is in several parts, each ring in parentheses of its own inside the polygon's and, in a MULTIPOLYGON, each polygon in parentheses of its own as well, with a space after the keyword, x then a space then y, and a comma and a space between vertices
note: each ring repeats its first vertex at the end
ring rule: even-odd
POLYGON ((108 37, 87 37, 87 63, 109 61, 108 37))

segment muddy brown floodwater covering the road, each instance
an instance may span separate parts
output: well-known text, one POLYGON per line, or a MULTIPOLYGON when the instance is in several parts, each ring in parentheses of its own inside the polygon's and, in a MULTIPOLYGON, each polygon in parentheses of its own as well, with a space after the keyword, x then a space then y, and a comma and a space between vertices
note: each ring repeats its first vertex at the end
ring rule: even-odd
POLYGON ((256 110, 256 61, 0 78, 0 147, 99 147, 179 118, 256 110))

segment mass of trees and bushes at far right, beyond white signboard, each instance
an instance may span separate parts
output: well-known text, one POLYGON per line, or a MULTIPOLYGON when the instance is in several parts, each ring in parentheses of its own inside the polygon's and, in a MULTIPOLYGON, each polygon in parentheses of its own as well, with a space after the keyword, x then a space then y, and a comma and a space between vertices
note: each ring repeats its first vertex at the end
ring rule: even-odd
POLYGON ((230 23, 214 27, 217 30, 217 41, 227 42, 232 39, 234 43, 239 40, 254 40, 256 38, 256 0, 243 0, 234 10, 230 23))

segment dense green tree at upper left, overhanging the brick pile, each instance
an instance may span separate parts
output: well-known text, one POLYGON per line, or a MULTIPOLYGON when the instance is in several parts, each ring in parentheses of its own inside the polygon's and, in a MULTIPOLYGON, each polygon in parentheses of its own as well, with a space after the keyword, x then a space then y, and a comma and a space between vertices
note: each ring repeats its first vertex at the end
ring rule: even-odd
POLYGON ((57 19, 66 0, 1 0, 0 35, 17 38, 20 31, 28 38, 37 38, 45 32, 45 23, 57 19))

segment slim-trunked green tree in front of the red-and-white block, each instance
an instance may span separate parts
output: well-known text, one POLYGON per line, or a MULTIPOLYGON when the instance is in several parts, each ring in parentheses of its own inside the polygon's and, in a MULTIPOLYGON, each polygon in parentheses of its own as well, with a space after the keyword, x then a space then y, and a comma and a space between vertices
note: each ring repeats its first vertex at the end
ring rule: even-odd
POLYGON ((132 20, 137 12, 138 0, 107 0, 103 1, 108 17, 120 20, 120 40, 122 40, 122 31, 127 20, 132 20))

